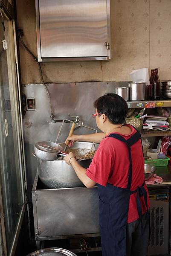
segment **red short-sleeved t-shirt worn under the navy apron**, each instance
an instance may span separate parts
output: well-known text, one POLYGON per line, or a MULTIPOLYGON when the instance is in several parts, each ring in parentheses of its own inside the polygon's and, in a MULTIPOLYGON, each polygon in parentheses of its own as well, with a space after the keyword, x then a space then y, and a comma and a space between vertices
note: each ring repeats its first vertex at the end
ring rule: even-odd
MULTIPOLYGON (((128 140, 136 130, 131 126, 131 132, 128 135, 120 134, 125 140, 128 140)), ((115 132, 116 134, 119 134, 115 132)), ((142 186, 144 182, 144 157, 142 154, 141 140, 131 146, 132 157, 132 183, 131 190, 136 190, 138 186, 142 186)), ((113 184, 121 188, 128 185, 129 170, 129 151, 128 146, 115 138, 105 137, 93 157, 92 163, 87 168, 86 175, 96 183, 106 186, 107 183, 113 184)), ((148 189, 145 186, 148 194, 148 189)), ((142 206, 142 214, 146 212, 144 197, 140 197, 142 206)), ((150 200, 148 196, 148 208, 150 200)), ((128 212, 128 223, 136 221, 139 218, 136 207, 136 193, 130 195, 130 204, 128 212)))

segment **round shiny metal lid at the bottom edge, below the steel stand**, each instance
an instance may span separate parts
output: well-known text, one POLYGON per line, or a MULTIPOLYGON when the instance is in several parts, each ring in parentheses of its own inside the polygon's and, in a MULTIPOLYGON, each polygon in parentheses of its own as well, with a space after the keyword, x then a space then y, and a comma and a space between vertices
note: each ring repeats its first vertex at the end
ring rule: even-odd
POLYGON ((33 253, 28 254, 27 256, 76 256, 75 253, 70 252, 62 248, 45 248, 37 250, 33 253))

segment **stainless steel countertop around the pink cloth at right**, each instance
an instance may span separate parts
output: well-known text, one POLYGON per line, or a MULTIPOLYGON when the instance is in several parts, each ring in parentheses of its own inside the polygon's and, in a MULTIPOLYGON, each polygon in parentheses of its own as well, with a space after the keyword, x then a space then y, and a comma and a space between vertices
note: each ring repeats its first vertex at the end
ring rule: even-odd
POLYGON ((155 183, 152 185, 147 185, 148 189, 151 188, 159 188, 159 187, 168 187, 171 186, 171 163, 168 166, 159 166, 157 167, 156 174, 162 177, 163 182, 162 184, 155 183))

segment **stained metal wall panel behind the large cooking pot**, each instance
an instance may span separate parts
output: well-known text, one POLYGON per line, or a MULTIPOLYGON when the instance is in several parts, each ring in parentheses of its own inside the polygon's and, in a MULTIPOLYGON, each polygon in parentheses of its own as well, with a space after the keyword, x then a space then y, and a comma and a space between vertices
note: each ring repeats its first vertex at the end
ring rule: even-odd
MULTIPOLYGON (((95 112, 93 102, 105 93, 114 93, 115 88, 125 86, 128 82, 83 82, 70 84, 48 84, 52 109, 55 119, 71 119, 68 114, 78 115, 84 125, 96 127, 96 120, 92 118, 95 112)), ((61 123, 50 121, 49 100, 43 84, 26 84, 23 93, 27 98, 35 98, 35 111, 27 111, 24 116, 24 140, 26 145, 27 179, 31 201, 31 191, 38 166, 32 156, 34 145, 38 141, 49 140, 55 142, 61 123)), ((71 123, 64 123, 58 143, 63 143, 69 133, 71 123)), ((91 130, 80 128, 75 134, 92 133, 91 130)))

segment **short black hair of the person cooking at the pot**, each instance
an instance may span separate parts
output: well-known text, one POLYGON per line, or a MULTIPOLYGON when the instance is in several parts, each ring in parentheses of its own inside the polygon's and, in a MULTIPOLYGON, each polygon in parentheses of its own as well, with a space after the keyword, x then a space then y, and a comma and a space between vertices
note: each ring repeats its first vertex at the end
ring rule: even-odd
POLYGON ((97 108, 98 113, 104 113, 114 125, 125 122, 128 105, 121 96, 115 93, 106 93, 96 99, 94 107, 97 108))

